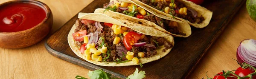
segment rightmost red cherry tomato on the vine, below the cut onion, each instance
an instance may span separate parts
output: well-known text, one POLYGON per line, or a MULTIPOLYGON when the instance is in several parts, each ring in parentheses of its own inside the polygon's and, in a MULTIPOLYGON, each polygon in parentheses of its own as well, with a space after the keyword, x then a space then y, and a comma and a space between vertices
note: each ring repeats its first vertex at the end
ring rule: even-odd
MULTIPOLYGON (((239 67, 236 69, 235 73, 240 77, 244 77, 244 76, 247 76, 248 74, 254 73, 254 72, 255 71, 253 69, 250 69, 250 68, 243 69, 243 68, 239 67)), ((250 79, 250 78, 247 78, 247 79, 250 79)), ((256 75, 253 76, 253 79, 256 79, 256 75)))

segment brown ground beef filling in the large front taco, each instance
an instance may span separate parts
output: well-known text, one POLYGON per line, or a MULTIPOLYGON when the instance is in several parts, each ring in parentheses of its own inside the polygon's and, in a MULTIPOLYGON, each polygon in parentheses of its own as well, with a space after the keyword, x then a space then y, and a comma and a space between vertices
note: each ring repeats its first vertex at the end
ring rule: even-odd
MULTIPOLYGON (((77 31, 81 31, 81 30, 87 30, 87 34, 93 33, 97 30, 97 28, 95 27, 95 24, 90 24, 88 23, 87 25, 81 23, 80 20, 76 20, 76 29, 75 32, 77 31)), ((120 56, 118 55, 118 52, 116 51, 116 46, 124 46, 123 45, 123 41, 121 40, 119 45, 115 45, 113 44, 113 40, 115 37, 120 37, 121 39, 123 39, 123 36, 121 35, 116 35, 113 33, 113 29, 103 25, 103 23, 101 23, 101 25, 103 26, 103 29, 101 31, 101 33, 99 34, 99 37, 104 37, 105 38, 105 45, 108 47, 108 49, 110 48, 110 56, 108 59, 106 59, 107 62, 114 62, 116 61, 117 58, 120 59, 120 56)), ((133 31, 131 29, 128 29, 128 31, 133 31)), ((166 49, 172 48, 172 44, 170 44, 169 42, 167 42, 163 37, 153 37, 153 36, 148 36, 146 35, 143 40, 139 40, 140 42, 146 42, 147 44, 153 44, 155 46, 157 46, 157 44, 154 41, 158 42, 158 45, 164 45, 165 49, 163 49, 162 51, 165 52, 166 49)), ((75 42, 76 45, 81 46, 83 44, 83 41, 79 42, 76 41, 75 42)), ((102 44, 102 40, 99 40, 98 42, 98 46, 102 44)), ((139 57, 137 54, 139 52, 143 52, 145 54, 145 57, 151 57, 157 54, 156 48, 148 48, 148 47, 134 47, 133 46, 133 52, 134 52, 134 57, 139 57)), ((132 50, 131 50, 132 52, 132 50)), ((106 58, 108 55, 102 54, 102 58, 106 58)), ((122 58, 122 60, 127 60, 125 57, 122 58)))

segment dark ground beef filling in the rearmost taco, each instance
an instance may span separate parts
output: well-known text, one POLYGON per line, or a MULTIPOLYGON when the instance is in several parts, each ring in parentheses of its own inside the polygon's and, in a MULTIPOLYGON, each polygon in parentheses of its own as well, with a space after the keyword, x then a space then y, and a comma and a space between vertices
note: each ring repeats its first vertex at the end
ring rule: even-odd
MULTIPOLYGON (((168 7, 170 2, 166 2, 166 1, 159 1, 159 2, 153 2, 152 0, 140 0, 142 3, 145 3, 151 7, 154 7, 160 11, 164 11, 164 8, 168 7)), ((174 2, 178 8, 183 8, 185 7, 182 3, 178 3, 177 1, 174 2)), ((177 8, 175 8, 175 10, 177 10, 177 8)), ((171 11, 171 13, 175 16, 175 17, 180 17, 183 18, 185 20, 188 20, 190 23, 202 23, 204 21, 204 17, 201 15, 200 17, 196 16, 194 17, 192 12, 187 10, 187 15, 184 14, 177 14, 174 10, 171 11)))

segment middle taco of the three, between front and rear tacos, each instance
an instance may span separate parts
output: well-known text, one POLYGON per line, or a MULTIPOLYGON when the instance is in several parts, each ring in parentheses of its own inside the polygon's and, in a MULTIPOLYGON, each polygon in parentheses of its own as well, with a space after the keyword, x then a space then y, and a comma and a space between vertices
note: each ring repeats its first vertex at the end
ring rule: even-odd
POLYGON ((149 11, 131 2, 129 3, 127 0, 123 1, 126 2, 111 0, 110 3, 104 4, 106 9, 98 8, 94 12, 106 14, 114 19, 129 20, 151 26, 174 37, 189 37, 191 35, 191 28, 188 23, 149 11))

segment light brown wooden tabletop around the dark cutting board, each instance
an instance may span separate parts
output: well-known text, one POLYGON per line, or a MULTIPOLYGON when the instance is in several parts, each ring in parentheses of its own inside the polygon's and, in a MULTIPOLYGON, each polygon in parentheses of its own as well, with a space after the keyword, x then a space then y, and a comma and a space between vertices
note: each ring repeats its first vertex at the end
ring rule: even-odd
MULTIPOLYGON (((9 0, 0 0, 0 3, 9 0)), ((53 13, 51 34, 70 20, 93 0, 40 0, 46 3, 53 13)), ((256 22, 246 11, 245 4, 224 29, 221 36, 209 48, 189 79, 213 77, 222 70, 234 70, 239 65, 236 49, 244 39, 256 39, 256 22)), ((49 54, 44 47, 45 40, 21 49, 0 48, 0 79, 75 79, 76 75, 88 78, 88 69, 58 59, 49 54)), ((146 72, 147 73, 147 72, 146 72)))

